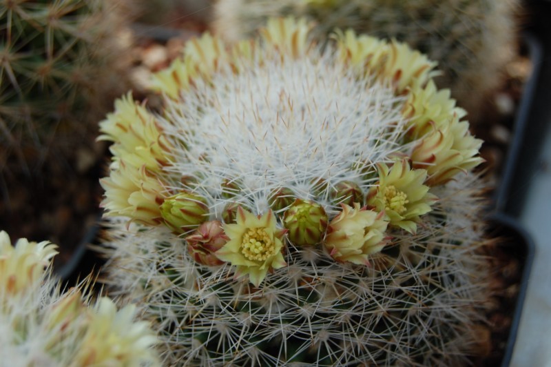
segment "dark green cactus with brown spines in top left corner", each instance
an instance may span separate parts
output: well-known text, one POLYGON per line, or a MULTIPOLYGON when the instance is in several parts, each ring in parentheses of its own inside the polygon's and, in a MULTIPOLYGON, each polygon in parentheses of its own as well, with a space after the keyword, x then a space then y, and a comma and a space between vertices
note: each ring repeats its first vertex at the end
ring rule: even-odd
POLYGON ((57 145, 70 139, 82 143, 86 132, 95 131, 123 84, 116 70, 125 59, 118 38, 125 23, 120 5, 0 0, 4 149, 48 146, 54 135, 61 135, 57 145))

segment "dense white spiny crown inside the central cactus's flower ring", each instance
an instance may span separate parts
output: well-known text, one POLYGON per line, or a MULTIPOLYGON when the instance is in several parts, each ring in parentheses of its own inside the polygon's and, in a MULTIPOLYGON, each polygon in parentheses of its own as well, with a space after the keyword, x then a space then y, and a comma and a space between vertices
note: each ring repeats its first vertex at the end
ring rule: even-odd
POLYGON ((167 167, 174 188, 187 172, 199 182, 189 189, 207 198, 214 212, 238 202, 261 213, 279 188, 313 199, 315 180, 322 178, 327 185, 318 197, 334 213, 329 197, 338 182, 364 189, 375 184, 375 177, 362 177, 360 163, 389 162, 408 150, 405 98, 390 86, 357 80, 331 55, 263 63, 233 78, 214 75, 214 84, 198 81, 186 103, 168 101, 160 127, 175 147, 167 167), (222 195, 227 179, 240 188, 229 198, 222 195))

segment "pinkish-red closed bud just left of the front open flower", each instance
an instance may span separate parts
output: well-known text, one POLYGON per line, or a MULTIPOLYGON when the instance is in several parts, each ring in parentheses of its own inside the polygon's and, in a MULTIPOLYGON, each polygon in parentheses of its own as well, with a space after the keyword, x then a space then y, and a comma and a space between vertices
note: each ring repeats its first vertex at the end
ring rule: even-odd
POLYGON ((205 221, 193 235, 187 236, 185 240, 189 255, 199 264, 207 266, 224 264, 224 261, 214 255, 214 252, 220 250, 229 241, 229 237, 222 229, 222 222, 205 221))

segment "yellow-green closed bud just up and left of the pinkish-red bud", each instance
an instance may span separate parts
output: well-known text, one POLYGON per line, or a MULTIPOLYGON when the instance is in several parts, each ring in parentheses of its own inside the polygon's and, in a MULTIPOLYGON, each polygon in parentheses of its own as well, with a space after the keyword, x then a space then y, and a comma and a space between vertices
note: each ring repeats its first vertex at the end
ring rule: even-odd
POLYGON ((167 197, 160 206, 160 215, 174 233, 186 232, 201 224, 209 215, 207 201, 189 192, 167 197))

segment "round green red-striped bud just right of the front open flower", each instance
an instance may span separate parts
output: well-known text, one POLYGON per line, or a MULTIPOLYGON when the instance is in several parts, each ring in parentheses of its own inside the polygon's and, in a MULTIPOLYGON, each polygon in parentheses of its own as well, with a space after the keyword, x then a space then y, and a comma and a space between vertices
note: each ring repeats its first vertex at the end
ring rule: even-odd
POLYGON ((315 245, 322 241, 327 228, 327 215, 320 204, 296 199, 285 212, 284 225, 293 244, 315 245))

